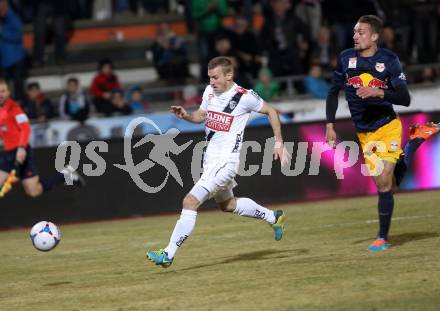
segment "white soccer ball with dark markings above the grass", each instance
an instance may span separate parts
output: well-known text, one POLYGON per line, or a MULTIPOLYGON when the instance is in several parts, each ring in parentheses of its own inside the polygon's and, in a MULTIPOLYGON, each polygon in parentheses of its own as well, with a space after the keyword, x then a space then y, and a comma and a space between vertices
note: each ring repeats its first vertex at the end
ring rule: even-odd
POLYGON ((36 249, 48 252, 60 242, 61 232, 55 224, 49 221, 40 221, 32 227, 30 237, 36 249))

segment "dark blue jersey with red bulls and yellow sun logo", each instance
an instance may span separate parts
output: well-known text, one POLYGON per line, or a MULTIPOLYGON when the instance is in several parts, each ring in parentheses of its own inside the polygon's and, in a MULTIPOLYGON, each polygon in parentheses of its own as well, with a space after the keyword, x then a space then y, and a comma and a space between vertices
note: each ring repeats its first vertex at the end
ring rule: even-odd
POLYGON ((402 86, 407 90, 406 77, 399 58, 390 50, 379 48, 371 57, 362 57, 354 49, 343 51, 339 55, 333 74, 329 97, 344 89, 352 120, 358 132, 375 131, 395 119, 393 104, 407 105, 391 102, 391 97, 387 96, 362 99, 356 95, 356 89, 361 86, 381 88, 385 94, 387 92, 392 94, 396 88, 402 86))

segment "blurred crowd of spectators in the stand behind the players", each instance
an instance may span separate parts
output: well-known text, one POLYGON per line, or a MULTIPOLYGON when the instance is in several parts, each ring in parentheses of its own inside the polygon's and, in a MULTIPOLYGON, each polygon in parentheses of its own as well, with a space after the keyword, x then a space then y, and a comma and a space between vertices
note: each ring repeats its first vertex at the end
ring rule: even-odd
MULTIPOLYGON (((325 98, 329 83, 324 73, 335 67, 341 50, 352 46, 354 23, 364 14, 383 19, 382 46, 396 52, 403 65, 439 61, 440 0, 0 0, 2 75, 13 81, 15 98, 34 119, 57 116, 82 122, 91 110, 106 116, 146 111, 141 87, 122 89, 110 59, 99 62, 88 92, 77 78, 69 78, 58 105, 50 103, 38 82, 23 85, 26 69, 45 66, 48 39, 55 47, 55 63, 63 65, 66 34, 75 20, 171 12, 183 15, 196 37, 200 82, 206 82, 209 59, 229 56, 236 65, 237 83, 254 88, 268 101, 286 88, 276 78, 295 75, 304 76, 294 83, 296 93, 325 98), (252 24, 257 14, 264 17, 259 31, 252 24), (230 27, 222 23, 227 15, 235 16, 230 27), (30 57, 22 44, 24 23, 33 25, 30 57)), ((183 85, 191 78, 188 43, 168 24, 158 26, 150 52, 159 79, 167 85, 183 85)), ((439 76, 438 67, 428 65, 410 82, 439 76)), ((197 101, 194 96, 189 103, 197 101)))

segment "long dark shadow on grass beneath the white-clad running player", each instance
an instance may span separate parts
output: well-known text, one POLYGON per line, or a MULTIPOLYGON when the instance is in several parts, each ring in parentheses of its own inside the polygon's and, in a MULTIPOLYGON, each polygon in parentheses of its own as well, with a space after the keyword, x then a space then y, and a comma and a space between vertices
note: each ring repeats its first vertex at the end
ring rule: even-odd
POLYGON ((264 250, 264 251, 255 251, 255 252, 249 252, 249 253, 243 253, 236 256, 225 258, 224 260, 217 261, 217 262, 210 262, 202 265, 195 265, 188 268, 183 268, 179 270, 171 270, 171 271, 164 271, 161 273, 176 273, 181 271, 188 271, 188 270, 195 270, 200 268, 206 268, 206 267, 213 267, 217 265, 224 265, 229 264, 233 262, 239 262, 239 261, 256 261, 256 260, 268 260, 268 259, 280 259, 280 258, 288 258, 292 257, 293 255, 303 255, 308 254, 310 250, 308 249, 286 249, 286 250, 264 250))

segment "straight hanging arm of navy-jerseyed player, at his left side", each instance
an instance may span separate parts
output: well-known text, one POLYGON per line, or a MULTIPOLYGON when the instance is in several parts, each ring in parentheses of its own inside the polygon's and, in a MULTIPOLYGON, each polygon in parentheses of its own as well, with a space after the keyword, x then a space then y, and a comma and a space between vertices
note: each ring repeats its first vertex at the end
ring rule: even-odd
POLYGON ((332 147, 336 148, 336 131, 335 131, 335 119, 336 111, 338 110, 338 96, 339 91, 344 86, 344 73, 342 72, 341 56, 339 56, 338 64, 333 72, 332 85, 326 99, 326 130, 325 141, 332 147))

